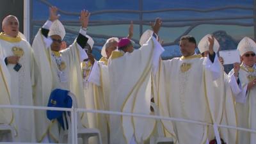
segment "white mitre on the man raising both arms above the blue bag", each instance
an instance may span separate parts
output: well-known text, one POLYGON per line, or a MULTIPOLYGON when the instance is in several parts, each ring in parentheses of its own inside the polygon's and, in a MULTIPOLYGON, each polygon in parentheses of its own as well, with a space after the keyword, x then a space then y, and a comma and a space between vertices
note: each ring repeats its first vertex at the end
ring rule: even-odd
POLYGON ((54 22, 52 22, 48 35, 59 35, 61 36, 61 40, 63 40, 64 36, 66 35, 66 31, 63 24, 61 24, 60 20, 57 19, 54 20, 54 22))

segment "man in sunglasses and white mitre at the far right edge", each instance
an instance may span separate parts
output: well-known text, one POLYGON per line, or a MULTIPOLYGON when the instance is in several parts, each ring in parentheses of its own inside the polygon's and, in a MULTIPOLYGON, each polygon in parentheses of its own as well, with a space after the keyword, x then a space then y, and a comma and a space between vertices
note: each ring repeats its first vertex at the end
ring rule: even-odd
MULTIPOLYGON (((233 82, 230 86, 236 98, 237 127, 256 129, 256 44, 251 38, 244 37, 237 49, 242 63, 235 63, 228 74, 230 83, 233 82)), ((237 132, 237 143, 255 143, 255 133, 237 132)))

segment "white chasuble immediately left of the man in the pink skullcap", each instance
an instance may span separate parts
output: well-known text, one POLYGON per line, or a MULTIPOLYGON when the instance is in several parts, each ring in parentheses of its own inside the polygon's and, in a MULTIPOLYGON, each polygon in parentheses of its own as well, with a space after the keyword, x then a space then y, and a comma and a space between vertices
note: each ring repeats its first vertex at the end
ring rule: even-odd
MULTIPOLYGON (((90 64, 90 63, 89 63, 90 64)), ((97 72, 97 77, 99 78, 99 83, 95 84, 88 80, 88 77, 84 77, 84 97, 86 99, 87 109, 97 109, 97 110, 108 110, 106 102, 108 102, 109 97, 109 79, 108 79, 108 69, 102 61, 95 61, 93 65, 87 65, 86 68, 82 70, 90 70, 86 72, 91 76, 92 72, 97 72), (99 68, 94 70, 93 68, 99 68)), ((108 143, 108 115, 100 113, 87 113, 88 125, 87 127, 96 128, 100 130, 102 136, 102 143, 108 143)), ((89 143, 96 143, 97 138, 92 138, 89 143)))

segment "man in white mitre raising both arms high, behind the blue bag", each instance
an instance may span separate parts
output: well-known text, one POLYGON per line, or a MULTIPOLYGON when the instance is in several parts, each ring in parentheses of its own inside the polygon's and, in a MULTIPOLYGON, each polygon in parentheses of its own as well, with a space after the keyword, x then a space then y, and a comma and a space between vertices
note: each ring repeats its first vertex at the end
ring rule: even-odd
MULTIPOLYGON (((65 28, 57 14, 58 8, 49 8, 49 20, 39 29, 33 41, 38 77, 36 77, 35 105, 46 106, 52 90, 60 88, 76 95, 77 106, 84 108, 83 77, 80 64, 88 56, 83 48, 86 46, 86 30, 90 13, 80 13, 81 29, 74 43, 61 51, 61 42, 65 28)), ((87 124, 86 115, 81 114, 81 123, 87 124)), ((58 124, 56 120, 47 120, 45 111, 36 112, 36 139, 41 142, 58 143, 58 124)))

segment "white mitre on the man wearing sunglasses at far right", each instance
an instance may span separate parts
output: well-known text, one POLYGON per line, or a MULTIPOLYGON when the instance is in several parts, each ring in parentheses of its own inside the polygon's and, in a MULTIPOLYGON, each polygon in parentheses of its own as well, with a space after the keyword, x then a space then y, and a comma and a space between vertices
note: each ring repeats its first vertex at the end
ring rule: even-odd
POLYGON ((245 52, 248 52, 248 51, 255 52, 256 44, 251 38, 248 38, 245 36, 237 45, 237 49, 240 53, 240 56, 243 56, 245 52))

